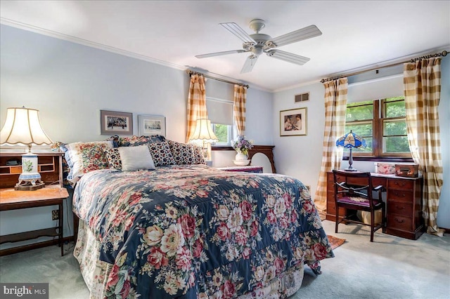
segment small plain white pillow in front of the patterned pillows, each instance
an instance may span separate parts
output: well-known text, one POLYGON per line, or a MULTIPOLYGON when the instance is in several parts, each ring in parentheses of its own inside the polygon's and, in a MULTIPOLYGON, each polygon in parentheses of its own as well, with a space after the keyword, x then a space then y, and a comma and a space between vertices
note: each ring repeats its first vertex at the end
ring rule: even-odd
POLYGON ((136 171, 138 169, 155 169, 152 155, 147 145, 137 147, 119 147, 122 171, 136 171))

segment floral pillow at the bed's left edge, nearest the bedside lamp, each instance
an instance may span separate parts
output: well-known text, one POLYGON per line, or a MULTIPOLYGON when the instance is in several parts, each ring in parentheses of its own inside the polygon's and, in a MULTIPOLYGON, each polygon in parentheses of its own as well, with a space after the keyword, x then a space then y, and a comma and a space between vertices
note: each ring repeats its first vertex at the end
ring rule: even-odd
POLYGON ((103 149, 112 148, 112 141, 96 141, 96 142, 74 142, 68 145, 72 168, 70 168, 70 178, 68 180, 75 184, 79 180, 79 176, 95 171, 97 169, 109 168, 103 149))

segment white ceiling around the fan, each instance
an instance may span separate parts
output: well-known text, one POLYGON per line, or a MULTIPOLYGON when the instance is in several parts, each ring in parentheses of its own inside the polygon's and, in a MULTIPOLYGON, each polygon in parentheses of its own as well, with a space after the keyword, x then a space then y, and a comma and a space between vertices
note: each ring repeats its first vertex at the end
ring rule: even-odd
POLYGON ((383 66, 436 49, 449 51, 450 1, 1 1, 1 23, 143 60, 197 68, 266 91, 333 74, 383 66), (240 74, 249 53, 219 25, 266 21, 272 37, 316 25, 321 36, 279 49, 311 58, 305 65, 261 55, 240 74))

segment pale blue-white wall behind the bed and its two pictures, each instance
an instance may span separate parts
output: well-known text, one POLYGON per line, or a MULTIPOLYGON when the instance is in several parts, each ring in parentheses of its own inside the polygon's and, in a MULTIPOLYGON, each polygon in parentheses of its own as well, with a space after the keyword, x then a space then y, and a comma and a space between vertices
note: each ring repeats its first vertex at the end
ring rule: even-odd
MULTIPOLYGON (((134 134, 138 114, 166 117, 166 137, 184 142, 189 77, 184 70, 129 58, 0 26, 0 124, 8 107, 39 109, 41 124, 53 141, 105 140, 100 133, 100 110, 131 112, 134 134)), ((233 99, 233 85, 208 79, 207 96, 233 99)), ((247 96, 247 135, 258 145, 271 145, 272 94, 250 86, 247 96)), ((230 164, 233 155, 218 152, 217 161, 230 164)), ((72 235, 72 205, 65 213, 65 236, 72 235)), ((0 234, 30 227, 52 227, 54 207, 1 212, 0 234)), ((21 244, 30 243, 27 241, 21 244)), ((1 248, 20 244, 2 244, 1 248)))

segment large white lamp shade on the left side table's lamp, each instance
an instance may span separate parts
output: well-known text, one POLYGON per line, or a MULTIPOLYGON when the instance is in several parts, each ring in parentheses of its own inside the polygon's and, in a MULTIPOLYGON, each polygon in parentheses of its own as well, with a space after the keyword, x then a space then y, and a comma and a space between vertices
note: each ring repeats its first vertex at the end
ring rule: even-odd
POLYGON ((6 121, 0 131, 0 145, 51 145, 39 121, 39 110, 8 108, 6 121))

